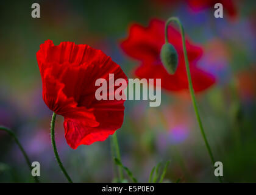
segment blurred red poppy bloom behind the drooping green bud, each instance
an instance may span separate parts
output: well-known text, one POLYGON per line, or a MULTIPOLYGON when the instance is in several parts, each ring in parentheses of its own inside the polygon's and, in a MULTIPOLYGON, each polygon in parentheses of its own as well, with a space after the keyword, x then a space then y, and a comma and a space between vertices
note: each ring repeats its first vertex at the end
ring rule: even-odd
MULTIPOLYGON (((188 89, 187 72, 182 49, 182 38, 174 27, 168 27, 169 42, 176 48, 178 66, 176 73, 169 74, 160 60, 160 50, 165 43, 165 23, 152 19, 149 27, 133 24, 130 27, 129 37, 121 43, 126 54, 141 61, 141 66, 135 70, 138 77, 146 79, 161 79, 162 88, 168 91, 188 89)), ((188 60, 194 91, 202 91, 215 83, 215 77, 197 68, 196 62, 202 55, 202 48, 192 44, 186 38, 188 60)))

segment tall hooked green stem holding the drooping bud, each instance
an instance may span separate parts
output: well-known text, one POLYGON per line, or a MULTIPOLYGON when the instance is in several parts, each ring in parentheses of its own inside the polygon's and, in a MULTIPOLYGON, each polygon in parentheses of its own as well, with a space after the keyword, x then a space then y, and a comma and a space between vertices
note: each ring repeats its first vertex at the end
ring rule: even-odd
MULTIPOLYGON (((213 168, 214 168, 215 160, 213 158, 213 153, 212 153, 212 150, 210 148, 210 145, 208 144, 207 137, 206 137, 205 132, 204 132, 204 127, 202 126, 201 117, 199 115, 198 108, 197 108, 196 97, 194 95, 194 88, 193 88, 193 84, 192 84, 192 80, 191 80, 190 65, 189 65, 189 62, 188 62, 187 48, 186 48, 186 44, 185 44, 185 32, 184 32, 182 24, 180 23, 179 18, 171 17, 171 18, 168 19, 168 21, 166 21, 166 24, 165 24, 165 41, 168 42, 168 33, 167 33, 168 32, 168 24, 171 23, 171 21, 175 21, 180 27, 180 32, 181 32, 181 36, 182 36, 183 53, 184 53, 184 59, 185 59, 187 77, 188 77, 188 87, 190 89, 190 94, 191 94, 191 99, 192 99, 192 103, 193 103, 193 107, 194 107, 194 112, 196 113, 196 118, 197 118, 200 130, 201 130, 201 134, 202 134, 202 137, 204 139, 205 146, 207 147, 207 151, 208 151, 208 154, 210 155, 210 158, 211 158, 211 161, 212 161, 212 164, 213 164, 213 168)), ((221 177, 218 177, 218 178, 219 178, 219 182, 222 182, 221 177)))

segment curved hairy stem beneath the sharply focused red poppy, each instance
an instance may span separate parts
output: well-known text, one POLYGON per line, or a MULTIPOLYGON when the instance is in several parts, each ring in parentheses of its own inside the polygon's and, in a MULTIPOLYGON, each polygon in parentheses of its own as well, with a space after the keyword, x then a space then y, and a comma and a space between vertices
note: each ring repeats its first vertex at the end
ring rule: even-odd
POLYGON ((60 166, 60 169, 62 169, 63 174, 65 175, 66 179, 69 183, 73 183, 71 178, 68 175, 68 172, 66 172, 66 169, 64 168, 62 161, 60 161, 59 154, 57 152, 56 143, 55 143, 55 133, 54 133, 54 127, 55 127, 55 119, 56 119, 56 113, 54 112, 52 114, 52 121, 51 121, 51 140, 52 140, 52 147, 54 149, 54 155, 55 158, 60 166))

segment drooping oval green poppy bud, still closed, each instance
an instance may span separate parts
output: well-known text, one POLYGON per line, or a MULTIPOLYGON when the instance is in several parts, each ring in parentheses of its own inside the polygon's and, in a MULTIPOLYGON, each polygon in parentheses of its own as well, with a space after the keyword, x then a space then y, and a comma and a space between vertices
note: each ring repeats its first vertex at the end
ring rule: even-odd
POLYGON ((174 46, 170 43, 163 44, 160 57, 168 73, 174 74, 178 65, 178 54, 174 46))

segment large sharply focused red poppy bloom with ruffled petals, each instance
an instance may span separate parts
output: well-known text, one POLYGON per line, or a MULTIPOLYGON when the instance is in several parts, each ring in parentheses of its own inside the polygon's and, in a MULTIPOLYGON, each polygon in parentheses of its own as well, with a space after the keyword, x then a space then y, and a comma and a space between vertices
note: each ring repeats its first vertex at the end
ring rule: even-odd
MULTIPOLYGON (((80 144, 104 141, 123 124, 124 100, 95 98, 95 82, 108 75, 126 79, 119 65, 87 44, 51 40, 40 45, 37 62, 43 83, 43 100, 58 115, 64 116, 65 138, 73 149, 80 144)), ((116 87, 114 87, 114 91, 116 87)))

